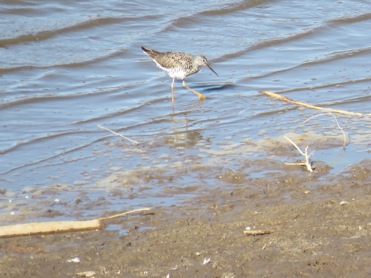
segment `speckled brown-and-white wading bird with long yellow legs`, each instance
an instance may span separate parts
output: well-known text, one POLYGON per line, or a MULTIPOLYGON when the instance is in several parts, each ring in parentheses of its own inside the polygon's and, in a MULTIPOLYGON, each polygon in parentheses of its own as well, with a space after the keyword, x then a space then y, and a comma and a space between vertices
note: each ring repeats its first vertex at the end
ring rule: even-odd
POLYGON ((207 66, 213 73, 219 76, 210 67, 210 65, 207 63, 206 57, 203 55, 197 55, 196 57, 193 57, 184 52, 160 52, 153 49, 147 49, 145 47, 142 47, 142 50, 145 54, 150 56, 152 60, 154 60, 154 62, 160 69, 165 70, 165 72, 167 72, 170 77, 173 77, 173 83, 171 83, 171 99, 173 100, 173 103, 175 78, 180 78, 181 80, 183 80, 184 87, 196 93, 198 96, 200 96, 200 99, 205 99, 205 96, 185 85, 185 77, 198 72, 201 66, 207 66))

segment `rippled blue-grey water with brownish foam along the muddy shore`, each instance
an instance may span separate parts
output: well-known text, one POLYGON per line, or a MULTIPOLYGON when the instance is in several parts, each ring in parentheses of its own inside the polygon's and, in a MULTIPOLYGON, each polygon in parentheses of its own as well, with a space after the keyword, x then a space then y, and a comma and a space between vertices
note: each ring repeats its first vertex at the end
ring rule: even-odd
MULTIPOLYGON (((2 1, 0 215, 35 221, 187 203, 295 162, 369 159, 369 1, 2 1), (204 54, 175 82, 141 46, 204 54), (99 128, 104 126, 140 146, 99 128), (250 179, 248 179, 249 177, 250 179)), ((307 174, 300 168, 288 171, 307 174)), ((325 179, 325 177, 324 177, 325 179)), ((289 196, 287 197, 289 199, 289 196)))

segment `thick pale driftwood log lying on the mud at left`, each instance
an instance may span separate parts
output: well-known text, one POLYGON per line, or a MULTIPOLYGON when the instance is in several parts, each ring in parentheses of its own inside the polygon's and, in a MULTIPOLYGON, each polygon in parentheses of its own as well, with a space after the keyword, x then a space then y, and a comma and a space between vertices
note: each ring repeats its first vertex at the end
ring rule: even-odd
POLYGON ((88 221, 34 222, 0 226, 0 238, 22 235, 53 234, 58 232, 104 229, 106 226, 99 219, 88 221))

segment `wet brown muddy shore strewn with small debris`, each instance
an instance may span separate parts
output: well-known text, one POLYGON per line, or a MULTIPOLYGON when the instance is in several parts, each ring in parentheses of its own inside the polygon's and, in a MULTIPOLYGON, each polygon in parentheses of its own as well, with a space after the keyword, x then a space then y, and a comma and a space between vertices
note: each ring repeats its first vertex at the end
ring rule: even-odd
POLYGON ((0 276, 366 277, 370 166, 364 160, 326 179, 279 171, 252 179, 263 188, 256 193, 204 191, 184 205, 106 220, 105 230, 1 239, 0 276))

